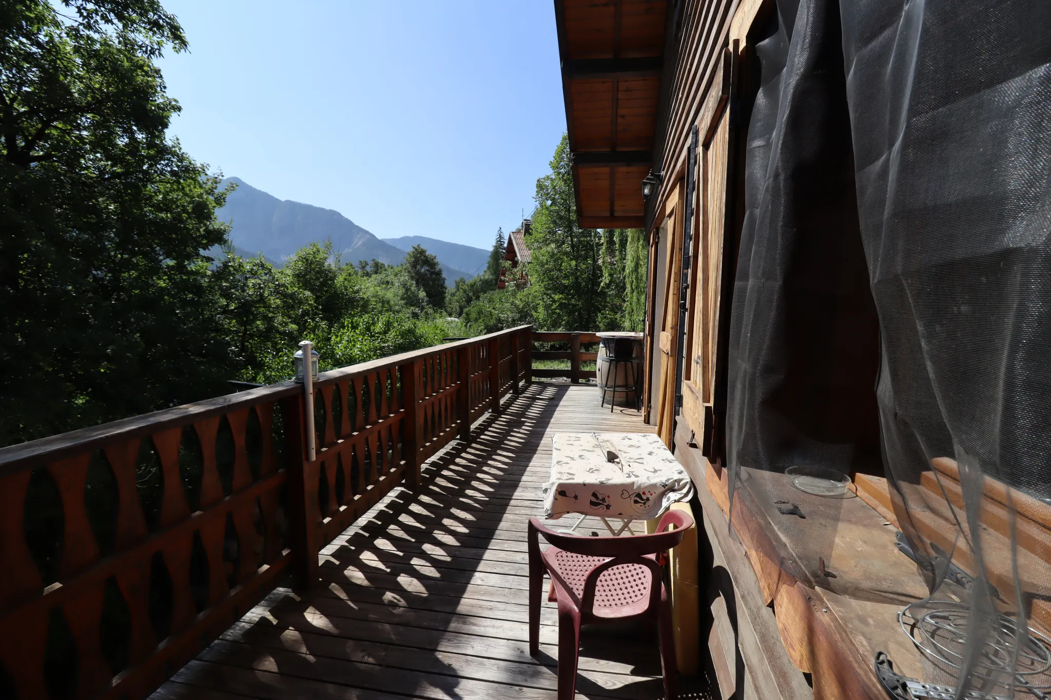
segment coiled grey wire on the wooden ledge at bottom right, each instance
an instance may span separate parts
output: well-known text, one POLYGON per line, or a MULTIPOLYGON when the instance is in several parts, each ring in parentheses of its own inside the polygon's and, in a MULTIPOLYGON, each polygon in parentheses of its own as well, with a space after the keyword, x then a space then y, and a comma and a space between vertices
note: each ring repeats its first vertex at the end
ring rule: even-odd
MULTIPOLYGON (((970 608, 963 602, 910 603, 898 613, 898 621, 912 643, 929 658, 960 669, 968 644, 970 608), (913 611, 913 606, 925 613, 913 611)), ((1015 618, 997 613, 995 629, 983 642, 975 678, 1002 687, 1026 690, 1045 698, 1051 691, 1051 639, 1033 628, 1019 646, 1015 618)))

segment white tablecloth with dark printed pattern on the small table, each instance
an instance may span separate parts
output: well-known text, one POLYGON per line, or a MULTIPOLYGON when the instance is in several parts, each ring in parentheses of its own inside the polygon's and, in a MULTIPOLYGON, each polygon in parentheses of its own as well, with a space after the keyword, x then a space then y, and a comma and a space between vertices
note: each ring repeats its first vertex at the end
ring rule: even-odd
POLYGON ((543 513, 647 519, 677 501, 688 501, 694 485, 656 434, 640 432, 557 432, 552 437, 551 481, 543 485, 543 513), (618 455, 606 460, 606 451, 618 455))

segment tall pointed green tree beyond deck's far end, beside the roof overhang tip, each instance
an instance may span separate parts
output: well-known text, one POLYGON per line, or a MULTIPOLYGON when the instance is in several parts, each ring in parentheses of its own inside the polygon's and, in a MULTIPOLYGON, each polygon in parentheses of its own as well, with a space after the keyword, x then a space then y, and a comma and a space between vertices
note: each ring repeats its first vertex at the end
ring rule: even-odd
POLYGON ((609 303, 601 291, 600 236, 577 226, 569 141, 562 135, 551 173, 536 182, 537 210, 527 243, 537 321, 545 330, 591 331, 609 303))

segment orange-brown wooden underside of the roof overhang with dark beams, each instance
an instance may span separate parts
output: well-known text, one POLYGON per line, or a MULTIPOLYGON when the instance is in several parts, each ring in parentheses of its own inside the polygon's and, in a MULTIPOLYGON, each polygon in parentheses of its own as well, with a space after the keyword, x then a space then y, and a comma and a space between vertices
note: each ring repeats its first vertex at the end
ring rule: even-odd
POLYGON ((641 228, 666 0, 555 0, 577 219, 641 228))

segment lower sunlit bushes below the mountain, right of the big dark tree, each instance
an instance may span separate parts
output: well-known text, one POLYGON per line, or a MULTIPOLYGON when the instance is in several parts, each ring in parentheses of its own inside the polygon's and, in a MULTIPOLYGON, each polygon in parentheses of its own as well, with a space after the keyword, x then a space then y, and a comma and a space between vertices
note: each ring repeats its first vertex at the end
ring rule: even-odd
MULTIPOLYGON (((406 262, 390 266, 342 264, 332 245, 310 243, 275 269, 262 258, 245 260, 232 252, 217 266, 225 338, 246 381, 288 379, 292 353, 310 340, 322 369, 373 360, 441 342, 459 332, 427 291, 414 284, 437 270, 434 256, 419 249, 406 262)), ((433 278, 432 278, 433 279, 433 278)))

